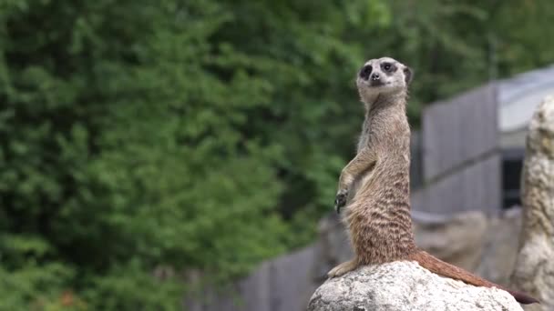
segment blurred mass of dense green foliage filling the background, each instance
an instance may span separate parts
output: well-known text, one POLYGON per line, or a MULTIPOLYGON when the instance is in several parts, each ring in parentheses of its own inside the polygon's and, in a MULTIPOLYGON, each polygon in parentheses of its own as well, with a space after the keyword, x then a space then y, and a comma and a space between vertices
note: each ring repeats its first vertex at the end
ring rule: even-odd
POLYGON ((305 245, 354 151, 365 59, 415 69, 417 125, 552 61, 551 6, 0 1, 0 309, 175 310, 160 266, 225 280, 305 245))

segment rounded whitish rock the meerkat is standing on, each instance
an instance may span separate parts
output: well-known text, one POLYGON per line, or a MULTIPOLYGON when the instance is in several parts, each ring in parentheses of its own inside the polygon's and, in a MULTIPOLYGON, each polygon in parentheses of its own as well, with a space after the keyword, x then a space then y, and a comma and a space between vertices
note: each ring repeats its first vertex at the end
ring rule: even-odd
POLYGON ((415 262, 362 266, 327 280, 308 311, 522 310, 498 288, 468 286, 437 276, 415 262))

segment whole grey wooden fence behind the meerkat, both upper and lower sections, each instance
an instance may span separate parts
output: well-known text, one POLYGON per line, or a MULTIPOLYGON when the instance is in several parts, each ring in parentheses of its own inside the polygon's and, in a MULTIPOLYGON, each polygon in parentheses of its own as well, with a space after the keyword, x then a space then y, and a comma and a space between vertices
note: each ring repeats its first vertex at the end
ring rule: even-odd
POLYGON ((497 85, 429 105, 413 139, 412 209, 452 215, 501 209, 497 85))

